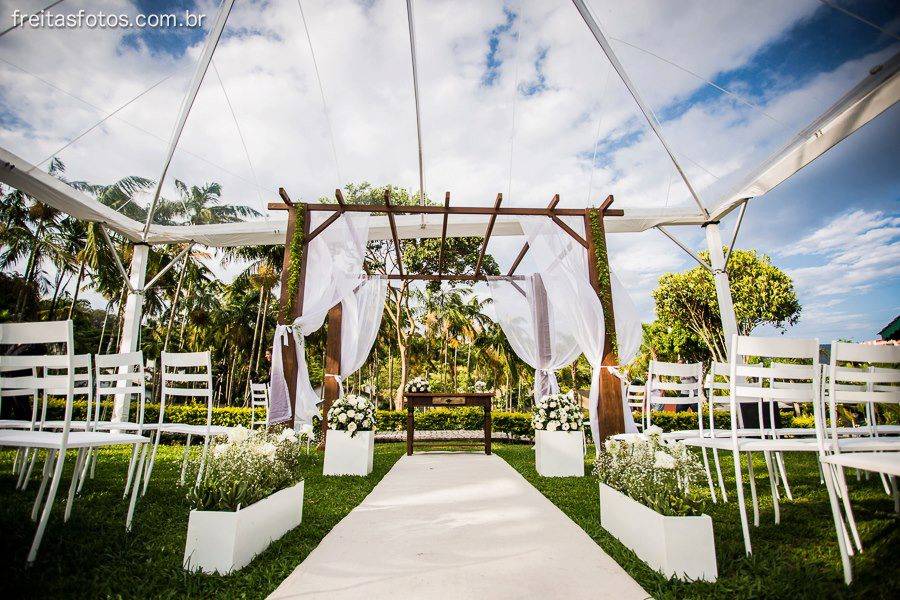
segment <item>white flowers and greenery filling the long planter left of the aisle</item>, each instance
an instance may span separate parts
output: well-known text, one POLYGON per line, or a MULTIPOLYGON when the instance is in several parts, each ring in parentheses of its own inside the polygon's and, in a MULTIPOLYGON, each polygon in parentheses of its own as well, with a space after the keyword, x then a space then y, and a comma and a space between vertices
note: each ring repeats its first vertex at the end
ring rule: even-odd
MULTIPOLYGON (((191 508, 239 510, 295 485, 303 479, 301 448, 292 429, 274 434, 234 428, 227 441, 212 447, 203 479, 188 492, 191 508)), ((199 463, 192 463, 197 469, 199 463)))

